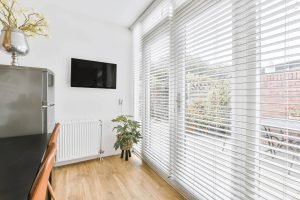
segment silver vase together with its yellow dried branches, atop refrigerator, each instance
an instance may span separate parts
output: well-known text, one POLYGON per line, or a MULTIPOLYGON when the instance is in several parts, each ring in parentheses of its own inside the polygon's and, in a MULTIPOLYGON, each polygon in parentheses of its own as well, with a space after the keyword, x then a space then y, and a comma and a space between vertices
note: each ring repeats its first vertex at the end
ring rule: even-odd
POLYGON ((18 65, 18 55, 29 52, 26 37, 47 36, 45 17, 30 9, 20 8, 16 0, 0 0, 1 48, 12 54, 12 65, 18 65))

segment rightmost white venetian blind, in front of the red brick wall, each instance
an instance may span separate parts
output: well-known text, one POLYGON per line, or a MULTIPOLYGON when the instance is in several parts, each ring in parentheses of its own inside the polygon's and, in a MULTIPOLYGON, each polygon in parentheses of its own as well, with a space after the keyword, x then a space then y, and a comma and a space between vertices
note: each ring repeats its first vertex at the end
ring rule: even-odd
POLYGON ((300 199, 299 1, 256 4, 258 195, 300 199))

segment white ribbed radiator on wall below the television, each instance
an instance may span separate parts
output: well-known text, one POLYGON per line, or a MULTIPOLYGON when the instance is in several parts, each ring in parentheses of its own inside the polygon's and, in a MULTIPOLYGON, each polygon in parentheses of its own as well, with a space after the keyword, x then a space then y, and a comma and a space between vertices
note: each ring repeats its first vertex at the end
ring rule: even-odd
POLYGON ((55 166, 100 158, 102 147, 102 122, 77 120, 61 122, 55 166))

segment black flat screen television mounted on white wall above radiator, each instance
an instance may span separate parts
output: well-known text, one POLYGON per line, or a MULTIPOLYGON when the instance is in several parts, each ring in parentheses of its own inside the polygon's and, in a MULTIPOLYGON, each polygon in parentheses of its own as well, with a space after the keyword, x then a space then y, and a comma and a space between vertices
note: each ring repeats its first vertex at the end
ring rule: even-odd
POLYGON ((71 59, 71 87, 116 89, 117 65, 71 59))

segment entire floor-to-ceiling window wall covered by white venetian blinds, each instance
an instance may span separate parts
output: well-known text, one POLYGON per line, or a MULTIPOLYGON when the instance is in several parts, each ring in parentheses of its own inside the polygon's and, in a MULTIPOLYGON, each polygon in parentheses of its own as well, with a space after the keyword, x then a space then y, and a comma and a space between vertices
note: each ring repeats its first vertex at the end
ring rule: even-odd
POLYGON ((300 199, 299 4, 161 0, 138 23, 142 157, 188 199, 300 199))

